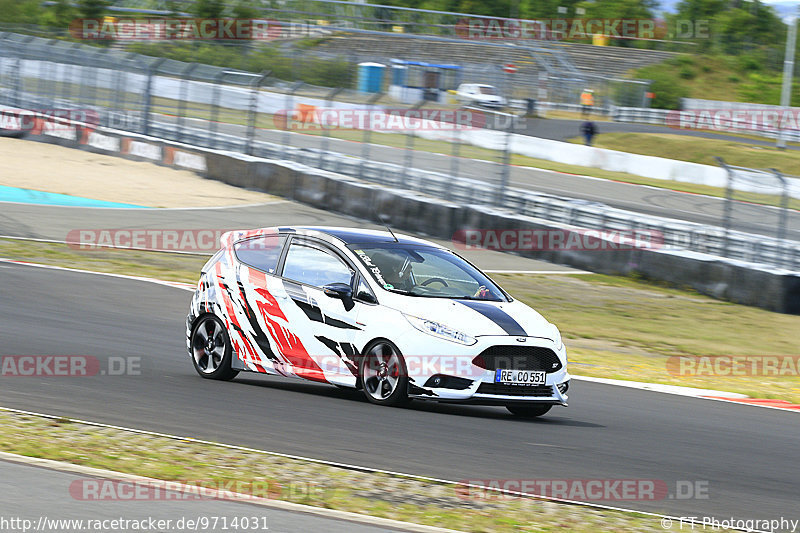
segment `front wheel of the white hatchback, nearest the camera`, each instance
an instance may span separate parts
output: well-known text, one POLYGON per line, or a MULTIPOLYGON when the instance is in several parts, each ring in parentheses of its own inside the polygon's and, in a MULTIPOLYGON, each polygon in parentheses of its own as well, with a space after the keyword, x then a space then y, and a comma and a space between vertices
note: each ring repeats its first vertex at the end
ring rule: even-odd
POLYGON ((364 395, 370 402, 400 406, 410 401, 406 361, 391 341, 378 340, 364 350, 358 375, 364 395))

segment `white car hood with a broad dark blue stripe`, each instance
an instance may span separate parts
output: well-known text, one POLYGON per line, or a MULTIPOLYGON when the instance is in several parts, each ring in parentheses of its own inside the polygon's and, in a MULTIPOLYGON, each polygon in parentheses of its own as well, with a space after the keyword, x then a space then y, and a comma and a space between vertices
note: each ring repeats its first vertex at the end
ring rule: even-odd
POLYGON ((522 302, 450 300, 392 295, 390 307, 433 320, 473 337, 515 335, 555 340, 555 327, 522 302))

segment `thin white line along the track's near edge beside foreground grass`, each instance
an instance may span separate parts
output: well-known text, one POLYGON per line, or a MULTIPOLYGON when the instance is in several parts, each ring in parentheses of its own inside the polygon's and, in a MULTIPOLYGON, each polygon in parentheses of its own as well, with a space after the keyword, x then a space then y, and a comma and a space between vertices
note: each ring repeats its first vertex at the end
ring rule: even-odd
MULTIPOLYGON (((102 422, 92 422, 92 421, 89 421, 89 420, 82 420, 82 419, 79 419, 79 418, 69 418, 69 417, 64 417, 64 416, 60 416, 60 415, 51 415, 51 414, 47 414, 47 413, 38 413, 38 412, 35 412, 35 411, 24 411, 22 409, 14 409, 14 408, 11 408, 11 407, 0 407, 0 411, 6 411, 6 412, 9 412, 9 413, 17 413, 17 414, 28 415, 28 416, 37 416, 37 417, 41 417, 41 418, 47 418, 47 419, 50 419, 50 420, 54 420, 54 419, 56 419, 56 420, 66 420, 68 422, 72 422, 72 423, 76 423, 76 424, 84 424, 84 425, 89 425, 89 426, 94 426, 94 427, 99 427, 99 428, 116 429, 116 430, 119 430, 119 431, 129 431, 131 433, 136 433, 136 434, 139 434, 139 435, 150 435, 150 436, 153 436, 153 437, 161 437, 161 438, 166 438, 166 439, 171 439, 171 440, 192 442, 192 443, 195 443, 195 444, 207 444, 207 445, 221 447, 221 448, 225 448, 225 449, 229 449, 229 450, 257 453, 257 454, 262 454, 262 455, 268 455, 268 456, 271 456, 271 457, 283 457, 283 458, 286 458, 286 459, 294 459, 294 460, 298 460, 298 461, 307 461, 307 462, 310 462, 310 463, 321 464, 321 465, 325 465, 325 466, 332 466, 332 467, 336 467, 336 468, 343 468, 343 469, 346 469, 346 470, 353 470, 353 471, 356 471, 356 472, 364 472, 364 473, 369 473, 369 474, 384 474, 384 475, 389 475, 389 476, 394 476, 394 477, 401 477, 401 478, 405 478, 405 479, 412 479, 412 480, 415 480, 415 481, 423 481, 423 482, 426 482, 426 483, 433 483, 433 484, 437 484, 437 485, 442 485, 442 484, 444 484, 444 485, 452 485, 452 486, 464 487, 464 488, 469 488, 469 489, 490 491, 490 492, 495 492, 495 493, 498 493, 498 494, 505 494, 505 495, 509 495, 509 496, 519 496, 519 497, 523 497, 523 498, 536 498, 536 499, 539 499, 539 500, 546 500, 546 501, 550 501, 550 502, 554 502, 554 503, 578 505, 578 506, 581 506, 581 507, 587 507, 587 508, 591 508, 591 509, 604 509, 604 510, 609 510, 609 511, 620 511, 620 512, 624 512, 624 513, 635 513, 635 514, 642 515, 642 516, 652 516, 654 518, 668 518, 670 520, 678 520, 678 521, 680 521, 680 517, 670 516, 670 515, 663 515, 663 514, 658 514, 658 513, 651 513, 651 512, 648 512, 648 511, 638 511, 636 509, 626 509, 624 507, 614 507, 614 506, 611 506, 611 505, 601 505, 601 504, 597 504, 597 503, 584 502, 584 501, 578 501, 578 500, 567 500, 567 499, 564 499, 564 498, 553 498, 551 496, 540 496, 540 495, 533 494, 533 493, 530 493, 530 492, 521 492, 521 491, 515 491, 515 490, 501 489, 501 488, 497 488, 497 487, 488 487, 488 486, 478 485, 478 484, 474 484, 474 483, 465 483, 463 481, 450 481, 450 480, 447 480, 447 479, 441 479, 441 478, 435 478, 435 477, 418 476, 418 475, 414 475, 414 474, 407 474, 407 473, 404 473, 404 472, 395 472, 393 470, 382 470, 382 469, 379 469, 379 468, 370 468, 370 467, 366 467, 366 466, 352 465, 352 464, 348 464, 348 463, 338 463, 338 462, 335 462, 335 461, 326 461, 324 459, 314 459, 314 458, 311 458, 311 457, 303 457, 303 456, 300 456, 300 455, 291 455, 291 454, 287 454, 287 453, 270 452, 270 451, 266 451, 266 450, 259 450, 258 448, 248 448, 246 446, 236 446, 234 444, 225 444, 225 443, 222 443, 222 442, 207 441, 207 440, 202 440, 202 439, 196 439, 194 437, 185 437, 185 436, 182 437, 182 436, 179 436, 179 435, 170 435, 168 433, 158 433, 158 432, 155 432, 155 431, 147 431, 147 430, 142 430, 142 429, 128 428, 128 427, 124 427, 124 426, 117 426, 117 425, 112 425, 112 424, 104 424, 102 422)), ((753 530, 753 531, 755 531, 755 530, 753 530)), ((757 532, 757 533, 766 533, 766 532, 757 532)))

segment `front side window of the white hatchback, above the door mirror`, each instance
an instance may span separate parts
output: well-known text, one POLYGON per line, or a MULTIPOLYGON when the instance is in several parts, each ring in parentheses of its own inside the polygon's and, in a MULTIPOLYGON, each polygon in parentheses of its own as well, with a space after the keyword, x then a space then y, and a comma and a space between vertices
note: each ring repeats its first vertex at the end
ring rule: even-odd
POLYGON ((292 243, 283 264, 283 277, 300 283, 324 287, 330 283, 353 281, 353 272, 341 259, 305 244, 292 243))

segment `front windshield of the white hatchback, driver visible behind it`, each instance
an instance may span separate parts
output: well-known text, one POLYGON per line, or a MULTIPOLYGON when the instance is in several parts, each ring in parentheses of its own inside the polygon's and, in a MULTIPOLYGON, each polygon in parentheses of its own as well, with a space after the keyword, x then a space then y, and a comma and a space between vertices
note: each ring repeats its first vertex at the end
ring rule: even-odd
POLYGON ((489 278, 447 250, 399 243, 355 244, 350 249, 388 291, 427 298, 506 300, 489 278))

